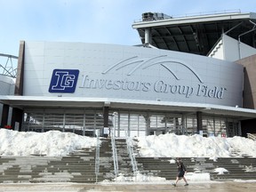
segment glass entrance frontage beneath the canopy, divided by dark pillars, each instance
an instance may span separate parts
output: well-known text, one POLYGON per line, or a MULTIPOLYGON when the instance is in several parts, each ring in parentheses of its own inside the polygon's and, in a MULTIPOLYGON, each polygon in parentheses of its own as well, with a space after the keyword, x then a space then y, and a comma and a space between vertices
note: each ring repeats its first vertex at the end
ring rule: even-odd
MULTIPOLYGON (((240 132, 239 122, 232 118, 220 116, 202 116, 203 135, 231 137, 240 132)), ((81 135, 95 136, 96 129, 103 134, 104 117, 102 110, 95 109, 43 109, 24 110, 22 131, 75 132, 81 135)), ((150 134, 193 135, 197 132, 196 113, 182 115, 179 113, 154 113, 147 111, 109 111, 108 127, 115 130, 116 137, 144 136, 150 134)))

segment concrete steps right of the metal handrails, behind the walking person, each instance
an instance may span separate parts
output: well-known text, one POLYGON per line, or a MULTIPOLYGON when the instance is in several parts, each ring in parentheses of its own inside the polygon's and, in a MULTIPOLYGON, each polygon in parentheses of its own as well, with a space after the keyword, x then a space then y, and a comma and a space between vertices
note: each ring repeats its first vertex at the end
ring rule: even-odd
MULTIPOLYGON (((166 180, 174 180, 177 174, 176 164, 170 164, 171 157, 136 157, 140 164, 140 172, 166 180)), ((209 158, 182 158, 187 172, 210 174, 211 180, 256 180, 256 158, 219 158, 213 161, 209 158), (214 172, 216 168, 225 168, 228 172, 214 172)))

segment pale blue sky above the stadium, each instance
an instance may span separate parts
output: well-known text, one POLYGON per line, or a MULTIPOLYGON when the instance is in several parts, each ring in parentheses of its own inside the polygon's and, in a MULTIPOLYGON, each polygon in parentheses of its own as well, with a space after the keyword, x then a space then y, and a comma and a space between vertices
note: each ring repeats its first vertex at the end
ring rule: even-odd
POLYGON ((18 56, 20 40, 141 44, 132 29, 143 12, 170 16, 256 12, 255 0, 0 0, 0 52, 18 56))

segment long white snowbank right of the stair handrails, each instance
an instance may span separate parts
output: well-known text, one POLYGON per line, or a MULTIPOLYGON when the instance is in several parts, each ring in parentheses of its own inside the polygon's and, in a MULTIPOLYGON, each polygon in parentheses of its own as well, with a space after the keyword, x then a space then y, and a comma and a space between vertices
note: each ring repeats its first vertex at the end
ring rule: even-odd
POLYGON ((166 157, 230 157, 233 150, 241 154, 256 157, 256 142, 242 137, 204 138, 195 134, 192 136, 175 135, 173 133, 159 136, 140 137, 139 147, 141 156, 166 157))

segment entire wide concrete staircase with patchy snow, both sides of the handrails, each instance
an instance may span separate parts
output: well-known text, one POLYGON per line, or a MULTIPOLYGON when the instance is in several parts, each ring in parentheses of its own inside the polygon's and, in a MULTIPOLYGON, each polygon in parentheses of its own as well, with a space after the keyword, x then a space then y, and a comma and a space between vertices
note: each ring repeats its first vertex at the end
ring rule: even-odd
MULTIPOLYGON (((134 145, 136 147, 136 145, 134 145)), ((133 148, 136 151, 136 148, 133 148)), ((137 148, 138 150, 138 148, 137 148)), ((69 156, 0 156, 0 183, 36 183, 36 182, 76 182, 95 183, 102 180, 114 180, 114 164, 111 140, 101 139, 100 173, 95 174, 96 148, 82 148, 69 156)), ((132 180, 132 164, 128 156, 126 141, 116 139, 118 173, 125 180, 132 180)), ((176 164, 170 164, 172 157, 136 156, 138 170, 145 176, 157 176, 174 180, 177 174, 176 164)), ((213 161, 209 158, 182 158, 188 172, 208 172, 212 180, 256 180, 256 158, 230 157, 213 161), (225 168, 228 172, 218 174, 216 168, 225 168)))

